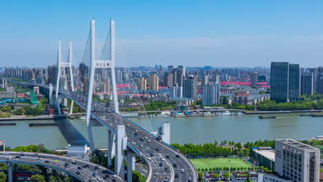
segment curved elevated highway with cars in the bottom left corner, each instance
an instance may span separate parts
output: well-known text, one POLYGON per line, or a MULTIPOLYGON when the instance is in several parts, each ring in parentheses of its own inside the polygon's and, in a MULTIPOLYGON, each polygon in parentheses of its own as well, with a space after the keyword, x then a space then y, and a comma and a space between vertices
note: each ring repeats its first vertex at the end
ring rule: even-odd
POLYGON ((45 168, 65 172, 84 182, 123 181, 120 176, 107 168, 66 156, 30 152, 0 152, 0 163, 41 165, 45 168))

